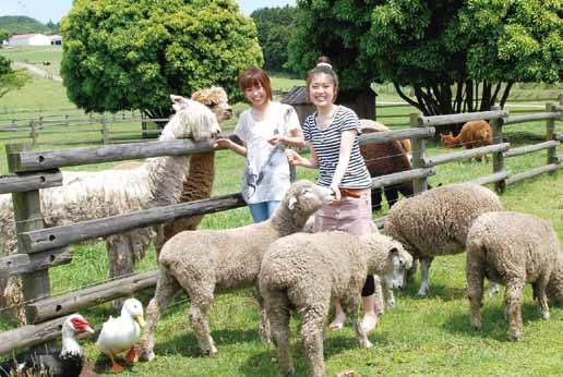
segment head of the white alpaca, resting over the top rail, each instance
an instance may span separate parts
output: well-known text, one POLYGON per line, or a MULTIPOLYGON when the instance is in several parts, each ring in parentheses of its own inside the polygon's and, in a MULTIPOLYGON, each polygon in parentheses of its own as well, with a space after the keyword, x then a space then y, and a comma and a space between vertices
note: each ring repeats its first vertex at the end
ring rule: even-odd
POLYGON ((220 133, 217 118, 206 106, 181 96, 170 95, 170 99, 176 113, 163 130, 160 141, 191 137, 197 142, 220 133))

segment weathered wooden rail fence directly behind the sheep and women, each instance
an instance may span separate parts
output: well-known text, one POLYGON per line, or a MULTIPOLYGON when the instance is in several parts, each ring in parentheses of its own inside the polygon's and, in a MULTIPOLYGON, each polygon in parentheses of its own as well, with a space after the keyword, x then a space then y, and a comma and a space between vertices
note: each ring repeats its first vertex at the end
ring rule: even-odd
MULTIPOLYGON (((416 192, 422 192, 427 188, 428 177, 435 174, 439 165, 492 154, 492 173, 479 177, 471 182, 478 184, 494 183, 496 190, 502 192, 506 185, 538 174, 552 172, 563 167, 563 155, 558 156, 556 150, 560 141, 563 139, 563 133, 555 132, 555 121, 558 120, 563 120, 563 102, 561 101, 559 105, 548 104, 543 112, 522 115, 511 115, 508 110, 499 109, 439 117, 411 114, 410 129, 366 134, 360 137, 360 143, 384 143, 393 139, 410 138, 412 144, 412 170, 374 178, 372 180, 373 188, 412 180, 416 192), (493 145, 440 156, 427 155, 426 141, 433 137, 436 126, 478 119, 490 120, 493 129, 493 145), (502 142, 504 127, 529 121, 546 122, 546 142, 519 148, 511 148, 508 143, 502 142), (518 174, 512 174, 504 168, 504 159, 539 150, 547 150, 546 165, 518 174)), ((22 276, 24 300, 26 302, 25 312, 31 325, 0 333, 0 354, 52 339, 60 331, 61 317, 68 314, 117 297, 131 295, 140 290, 154 287, 156 283, 156 272, 149 271, 68 294, 50 296, 49 269, 72 260, 72 255, 68 250, 69 245, 140 227, 163 223, 180 217, 212 214, 245 205, 240 194, 231 194, 188 204, 156 207, 93 219, 64 227, 43 229, 39 190, 62 184, 59 168, 202 153, 211 150, 211 142, 193 143, 187 139, 44 151, 34 151, 29 147, 22 147, 21 145, 10 146, 8 148, 8 161, 11 174, 0 178, 0 193, 11 192, 13 195, 19 254, 0 258, 0 278, 5 279, 14 275, 22 276)), ((384 221, 383 218, 375 222, 382 226, 384 221)))

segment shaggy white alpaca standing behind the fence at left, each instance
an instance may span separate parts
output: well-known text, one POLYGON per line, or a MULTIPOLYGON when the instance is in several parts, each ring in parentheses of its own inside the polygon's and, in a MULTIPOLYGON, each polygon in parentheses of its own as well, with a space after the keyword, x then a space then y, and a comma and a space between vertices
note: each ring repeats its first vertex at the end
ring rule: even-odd
MULTIPOLYGON (((193 138, 202 141, 220 132, 217 117, 206 106, 179 96, 171 96, 177 111, 163 130, 159 141, 193 138)), ((96 218, 127 214, 179 202, 190 155, 164 156, 147 159, 132 170, 106 170, 93 173, 63 174, 63 185, 40 191, 45 227, 58 227, 96 218)), ((155 236, 153 227, 135 229, 106 238, 110 259, 109 277, 133 272, 139 260, 155 236)), ((0 238, 4 255, 16 251, 13 207, 10 194, 0 195, 0 238)), ((14 307, 21 302, 19 279, 0 282, 1 307, 14 307)), ((15 316, 24 321, 23 311, 15 316)))

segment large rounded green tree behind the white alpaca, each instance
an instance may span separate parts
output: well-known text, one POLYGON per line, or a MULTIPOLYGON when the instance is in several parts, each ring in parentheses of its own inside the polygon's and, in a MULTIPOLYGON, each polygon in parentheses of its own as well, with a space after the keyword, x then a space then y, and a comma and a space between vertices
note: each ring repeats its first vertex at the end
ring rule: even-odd
POLYGON ((170 113, 170 94, 220 85, 262 64, 256 29, 233 0, 76 0, 62 20, 61 75, 86 111, 170 113))

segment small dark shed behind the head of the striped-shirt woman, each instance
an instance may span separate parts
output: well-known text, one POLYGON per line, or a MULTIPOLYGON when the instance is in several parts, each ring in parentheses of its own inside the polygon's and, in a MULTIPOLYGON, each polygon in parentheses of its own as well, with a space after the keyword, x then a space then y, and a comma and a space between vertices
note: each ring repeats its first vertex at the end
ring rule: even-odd
MULTIPOLYGON (((375 119, 376 96, 370 88, 354 88, 339 92, 336 104, 352 109, 360 119, 375 119)), ((304 86, 294 86, 284 95, 282 102, 291 105, 296 109, 300 122, 303 122, 314 111, 314 106, 309 100, 304 86)))

